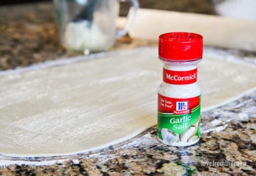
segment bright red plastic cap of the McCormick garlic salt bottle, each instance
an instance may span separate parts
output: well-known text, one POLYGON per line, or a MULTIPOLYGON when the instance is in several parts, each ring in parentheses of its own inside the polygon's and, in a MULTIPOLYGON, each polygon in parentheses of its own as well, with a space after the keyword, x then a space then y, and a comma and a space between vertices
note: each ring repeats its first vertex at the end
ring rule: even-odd
POLYGON ((159 36, 160 59, 195 61, 203 55, 203 36, 195 33, 165 33, 159 36))

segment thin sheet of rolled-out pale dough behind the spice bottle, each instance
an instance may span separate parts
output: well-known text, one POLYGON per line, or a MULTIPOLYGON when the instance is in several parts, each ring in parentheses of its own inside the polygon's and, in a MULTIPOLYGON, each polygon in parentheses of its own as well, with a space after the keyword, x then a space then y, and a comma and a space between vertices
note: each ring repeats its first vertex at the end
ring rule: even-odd
MULTIPOLYGON (((203 110, 255 89, 255 68, 222 57, 206 50, 199 64, 203 110)), ((156 125, 161 74, 157 48, 1 74, 0 154, 75 154, 138 135, 156 125)))

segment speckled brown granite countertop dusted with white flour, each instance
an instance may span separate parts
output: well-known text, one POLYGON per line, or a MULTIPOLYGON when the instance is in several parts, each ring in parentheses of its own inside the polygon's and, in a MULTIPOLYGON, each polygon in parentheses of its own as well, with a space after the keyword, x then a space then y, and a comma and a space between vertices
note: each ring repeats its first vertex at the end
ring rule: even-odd
MULTIPOLYGON (((211 8, 208 12, 213 13, 211 8)), ((2 6, 0 24, 1 70, 77 55, 60 47, 51 3, 2 6)), ((156 43, 125 36, 113 50, 148 45, 156 43)), ((255 54, 230 52, 255 64, 255 54)), ((10 164, 0 166, 0 175, 256 175, 255 91, 202 113, 202 123, 209 124, 209 130, 190 147, 159 143, 154 126, 130 140, 84 154, 22 158, 20 165, 10 162, 19 163, 20 158, 0 156, 1 164, 10 164)))

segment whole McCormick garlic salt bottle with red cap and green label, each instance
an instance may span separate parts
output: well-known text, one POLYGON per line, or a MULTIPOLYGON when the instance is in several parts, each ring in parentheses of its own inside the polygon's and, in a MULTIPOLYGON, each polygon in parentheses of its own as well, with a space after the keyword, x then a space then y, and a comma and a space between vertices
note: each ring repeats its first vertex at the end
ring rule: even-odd
POLYGON ((199 34, 159 36, 163 83, 158 90, 157 136, 166 145, 193 145, 200 139, 201 89, 196 80, 202 53, 199 34))

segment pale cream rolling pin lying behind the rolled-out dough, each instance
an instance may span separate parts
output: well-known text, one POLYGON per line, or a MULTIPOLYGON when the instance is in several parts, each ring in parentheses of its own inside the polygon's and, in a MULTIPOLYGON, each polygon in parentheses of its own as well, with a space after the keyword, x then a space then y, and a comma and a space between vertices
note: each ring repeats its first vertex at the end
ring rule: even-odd
POLYGON ((216 15, 140 9, 129 35, 158 40, 159 34, 172 31, 202 34, 205 45, 256 51, 256 21, 216 15))

